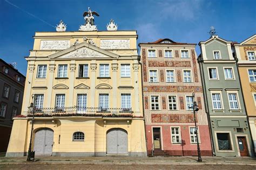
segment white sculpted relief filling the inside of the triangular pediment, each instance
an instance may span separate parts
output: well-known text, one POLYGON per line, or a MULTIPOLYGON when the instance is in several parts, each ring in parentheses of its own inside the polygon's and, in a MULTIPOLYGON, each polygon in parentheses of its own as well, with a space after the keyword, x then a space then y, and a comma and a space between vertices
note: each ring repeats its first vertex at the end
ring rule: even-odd
POLYGON ((104 57, 101 53, 87 49, 87 48, 81 48, 77 49, 75 51, 72 51, 61 58, 86 58, 86 57, 104 57))

